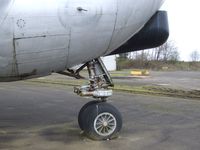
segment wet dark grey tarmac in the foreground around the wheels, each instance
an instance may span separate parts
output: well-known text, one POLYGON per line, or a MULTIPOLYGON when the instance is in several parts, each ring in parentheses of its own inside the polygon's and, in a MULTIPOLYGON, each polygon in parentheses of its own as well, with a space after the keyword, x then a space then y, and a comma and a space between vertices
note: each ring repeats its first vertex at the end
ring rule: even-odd
POLYGON ((115 92, 109 103, 122 113, 123 129, 118 139, 100 142, 87 139, 77 123, 80 108, 90 100, 75 95, 73 87, 68 86, 26 81, 0 83, 0 149, 200 148, 198 100, 115 92))

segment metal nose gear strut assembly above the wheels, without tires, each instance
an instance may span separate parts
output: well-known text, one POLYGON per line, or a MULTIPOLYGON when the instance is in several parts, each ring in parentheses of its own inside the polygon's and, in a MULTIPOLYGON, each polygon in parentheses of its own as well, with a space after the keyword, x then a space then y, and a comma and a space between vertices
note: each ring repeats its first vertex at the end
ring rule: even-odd
POLYGON ((109 90, 108 87, 113 87, 114 84, 102 60, 94 59, 83 66, 88 69, 89 84, 75 87, 74 92, 80 96, 92 96, 101 101, 112 96, 112 90, 109 90))

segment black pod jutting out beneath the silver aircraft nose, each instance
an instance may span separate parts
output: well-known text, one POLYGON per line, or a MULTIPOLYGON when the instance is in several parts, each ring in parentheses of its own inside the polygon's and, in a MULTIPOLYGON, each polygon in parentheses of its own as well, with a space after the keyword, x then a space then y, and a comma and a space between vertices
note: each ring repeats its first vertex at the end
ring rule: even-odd
POLYGON ((168 37, 167 12, 158 11, 136 35, 110 55, 155 48, 164 44, 168 37))

